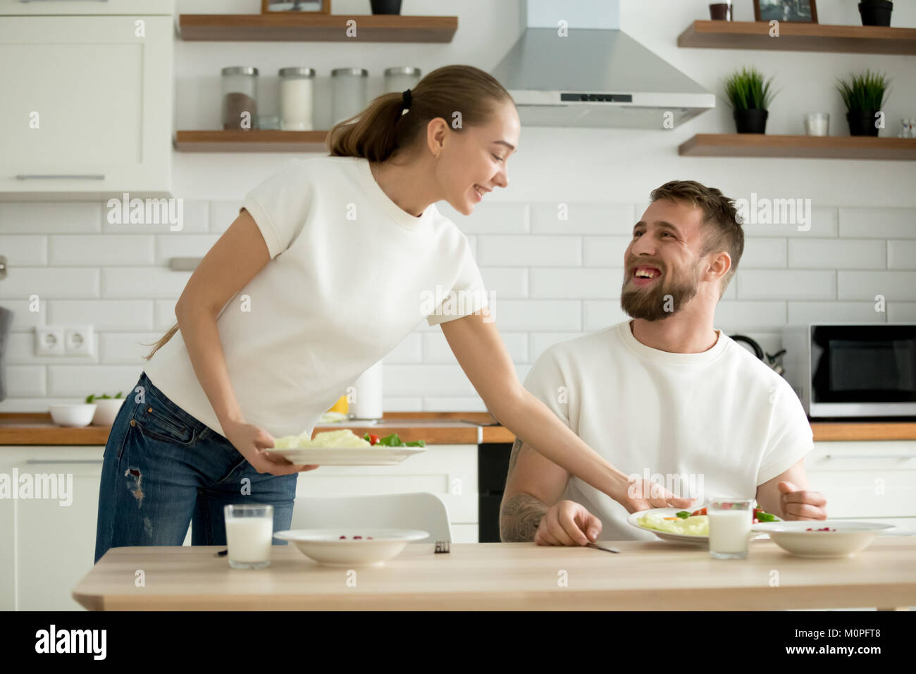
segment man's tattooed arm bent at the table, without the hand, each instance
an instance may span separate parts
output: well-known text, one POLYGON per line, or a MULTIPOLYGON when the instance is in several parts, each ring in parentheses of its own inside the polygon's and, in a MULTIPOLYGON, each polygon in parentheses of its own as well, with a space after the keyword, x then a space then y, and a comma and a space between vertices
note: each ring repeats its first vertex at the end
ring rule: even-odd
POLYGON ((569 479, 566 470, 517 437, 499 506, 500 539, 504 543, 533 541, 541 518, 560 500, 569 479))

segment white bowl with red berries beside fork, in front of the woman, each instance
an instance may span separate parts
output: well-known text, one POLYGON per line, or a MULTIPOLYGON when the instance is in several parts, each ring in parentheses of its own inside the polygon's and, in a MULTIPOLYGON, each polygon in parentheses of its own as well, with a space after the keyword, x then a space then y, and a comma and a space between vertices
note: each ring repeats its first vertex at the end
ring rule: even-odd
POLYGON ((430 536, 416 529, 385 529, 373 526, 338 529, 290 529, 275 538, 289 541, 308 558, 328 567, 382 566, 410 542, 430 536), (345 536, 341 539, 341 536, 345 536), (362 536, 355 539, 354 536, 362 536), (369 536, 372 536, 370 539, 369 536))

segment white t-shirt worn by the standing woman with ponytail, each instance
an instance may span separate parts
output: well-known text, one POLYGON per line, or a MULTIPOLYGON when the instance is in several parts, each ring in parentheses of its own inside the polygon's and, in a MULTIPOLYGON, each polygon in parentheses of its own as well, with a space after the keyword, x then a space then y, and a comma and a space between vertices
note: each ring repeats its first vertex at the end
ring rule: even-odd
MULTIPOLYGON (((420 217, 400 208, 364 158, 285 162, 242 208, 271 260, 216 325, 245 421, 272 436, 311 433, 346 387, 424 319, 434 326, 487 306, 467 237, 433 204, 420 217)), ((144 370, 225 435, 180 330, 144 370)))

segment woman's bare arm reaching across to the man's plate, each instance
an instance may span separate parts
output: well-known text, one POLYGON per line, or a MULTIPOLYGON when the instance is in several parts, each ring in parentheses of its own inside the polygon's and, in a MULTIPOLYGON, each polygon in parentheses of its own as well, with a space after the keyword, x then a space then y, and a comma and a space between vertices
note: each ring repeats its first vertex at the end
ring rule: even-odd
POLYGON ((528 392, 518 381, 495 323, 473 314, 440 325, 455 358, 487 409, 525 444, 605 492, 630 513, 668 503, 675 507, 687 507, 691 503, 690 499, 671 498, 671 492, 663 489, 653 488, 650 496, 648 485, 641 481, 631 484, 626 473, 586 445, 547 405, 528 392))

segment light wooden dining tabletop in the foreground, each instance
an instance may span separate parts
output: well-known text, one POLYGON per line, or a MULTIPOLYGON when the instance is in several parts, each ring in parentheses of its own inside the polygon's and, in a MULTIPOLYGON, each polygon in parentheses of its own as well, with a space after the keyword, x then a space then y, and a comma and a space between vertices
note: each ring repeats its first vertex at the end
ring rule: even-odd
POLYGON ((806 559, 751 541, 747 559, 615 541, 614 555, 533 543, 408 545, 381 568, 322 567, 293 546, 267 569, 231 569, 224 547, 115 547, 73 590, 91 610, 780 610, 916 605, 916 538, 853 558, 806 559), (136 587, 136 572, 144 586, 136 587), (355 584, 348 578, 355 580, 355 584), (565 585, 562 581, 565 579, 565 585))

